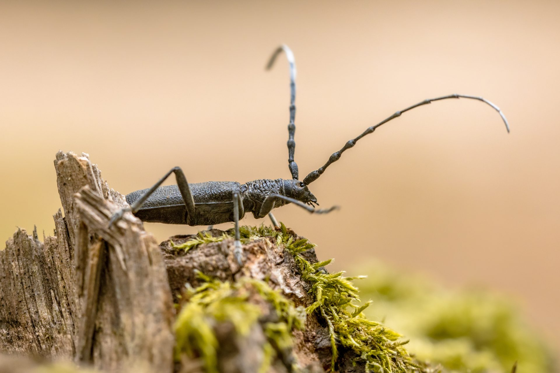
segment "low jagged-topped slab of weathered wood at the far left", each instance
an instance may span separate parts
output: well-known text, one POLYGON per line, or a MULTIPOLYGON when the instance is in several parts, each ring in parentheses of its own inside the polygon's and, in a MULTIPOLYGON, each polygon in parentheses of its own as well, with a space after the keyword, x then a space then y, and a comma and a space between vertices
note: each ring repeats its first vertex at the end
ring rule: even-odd
POLYGON ((64 306, 72 285, 58 282, 59 247, 45 241, 18 229, 0 252, 0 349, 72 358, 74 323, 64 306))

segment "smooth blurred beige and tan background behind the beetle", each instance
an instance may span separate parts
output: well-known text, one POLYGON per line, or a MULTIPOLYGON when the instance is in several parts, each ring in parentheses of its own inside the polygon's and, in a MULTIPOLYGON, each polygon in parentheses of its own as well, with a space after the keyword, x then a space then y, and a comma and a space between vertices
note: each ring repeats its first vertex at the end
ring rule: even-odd
MULTIPOLYGON (((512 131, 472 100, 417 108, 311 185, 341 210, 277 218, 334 269, 376 258, 509 294, 558 345, 559 20, 557 1, 2 1, 0 233, 52 232, 59 149, 89 153, 122 193, 173 166, 189 182, 289 178, 287 63, 264 71, 286 43, 301 177, 428 97, 486 97, 512 131)), ((160 240, 199 229, 146 226, 160 240)))

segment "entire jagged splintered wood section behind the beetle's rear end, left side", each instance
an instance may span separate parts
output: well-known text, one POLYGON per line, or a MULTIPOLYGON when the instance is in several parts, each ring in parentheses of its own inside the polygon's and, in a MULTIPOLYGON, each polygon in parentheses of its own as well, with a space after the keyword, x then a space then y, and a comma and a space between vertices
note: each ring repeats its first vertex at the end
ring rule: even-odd
POLYGON ((0 350, 116 371, 171 372, 173 306, 160 247, 87 154, 57 154, 55 236, 18 229, 0 252, 0 350), (94 338, 95 335, 95 338, 94 338))

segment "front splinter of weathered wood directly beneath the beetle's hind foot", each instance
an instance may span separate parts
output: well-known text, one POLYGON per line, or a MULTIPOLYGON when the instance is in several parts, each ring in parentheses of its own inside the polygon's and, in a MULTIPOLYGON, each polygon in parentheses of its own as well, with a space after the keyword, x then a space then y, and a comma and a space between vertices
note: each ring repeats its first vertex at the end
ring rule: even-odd
POLYGON ((107 229, 118 205, 88 187, 77 193, 75 206, 90 232, 109 247, 97 308, 94 364, 119 369, 127 359, 145 359, 158 371, 171 370, 173 305, 159 245, 132 214, 107 229))

